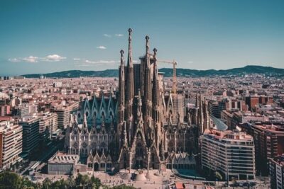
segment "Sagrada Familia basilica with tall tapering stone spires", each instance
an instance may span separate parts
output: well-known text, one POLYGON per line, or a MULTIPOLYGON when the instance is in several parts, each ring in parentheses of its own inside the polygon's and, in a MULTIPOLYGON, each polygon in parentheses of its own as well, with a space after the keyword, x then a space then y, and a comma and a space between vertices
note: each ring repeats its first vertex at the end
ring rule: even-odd
POLYGON ((79 154, 94 171, 194 168, 198 136, 209 127, 207 104, 196 96, 196 108, 187 110, 175 71, 173 87, 165 89, 157 50, 150 52, 148 36, 141 63, 133 64, 132 30, 128 31, 126 61, 120 51, 119 91, 81 102, 67 127, 65 149, 79 154))

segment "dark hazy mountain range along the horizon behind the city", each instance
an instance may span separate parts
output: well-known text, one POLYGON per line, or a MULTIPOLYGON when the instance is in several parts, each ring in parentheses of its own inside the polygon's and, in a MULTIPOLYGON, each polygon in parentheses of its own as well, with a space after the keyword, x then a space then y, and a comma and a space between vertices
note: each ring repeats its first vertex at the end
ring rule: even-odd
MULTIPOLYGON (((163 72, 164 76, 173 76, 173 69, 162 68, 159 72, 163 72)), ((278 76, 284 76, 284 69, 274 68, 274 67, 262 67, 262 66, 246 66, 241 68, 233 69, 207 69, 207 70, 197 70, 197 69, 177 69, 177 76, 180 77, 197 77, 197 76, 240 76, 244 74, 273 74, 278 76)), ((118 77, 118 69, 107 69, 104 71, 82 71, 82 70, 69 70, 69 71, 59 71, 50 74, 25 74, 26 78, 38 78, 40 76, 45 76, 48 78, 71 78, 80 76, 92 76, 92 77, 118 77)))

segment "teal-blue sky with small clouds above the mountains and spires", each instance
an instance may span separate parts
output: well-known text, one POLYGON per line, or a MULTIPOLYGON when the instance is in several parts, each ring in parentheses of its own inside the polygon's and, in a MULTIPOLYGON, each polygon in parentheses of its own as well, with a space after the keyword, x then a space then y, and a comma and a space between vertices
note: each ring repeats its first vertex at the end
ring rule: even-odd
POLYGON ((182 68, 284 68, 283 10, 283 0, 1 0, 0 75, 116 69, 128 28, 135 60, 149 35, 182 68))

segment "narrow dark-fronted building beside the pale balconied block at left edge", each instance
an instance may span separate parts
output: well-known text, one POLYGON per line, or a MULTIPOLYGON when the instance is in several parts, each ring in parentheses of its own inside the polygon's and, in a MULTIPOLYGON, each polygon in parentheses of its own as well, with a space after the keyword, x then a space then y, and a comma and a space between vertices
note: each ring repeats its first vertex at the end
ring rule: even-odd
POLYGON ((26 116, 21 119, 19 125, 23 127, 23 153, 31 156, 39 144, 40 118, 26 116))

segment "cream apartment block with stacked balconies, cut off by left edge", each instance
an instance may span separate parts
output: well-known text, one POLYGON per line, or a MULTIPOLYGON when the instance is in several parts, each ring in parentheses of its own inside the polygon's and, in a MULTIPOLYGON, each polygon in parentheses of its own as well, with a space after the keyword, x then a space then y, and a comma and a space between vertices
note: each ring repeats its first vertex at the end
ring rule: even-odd
POLYGON ((0 122, 0 168, 10 168, 21 161, 22 127, 13 120, 0 122))

